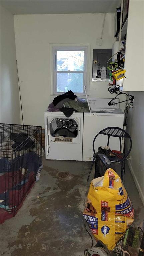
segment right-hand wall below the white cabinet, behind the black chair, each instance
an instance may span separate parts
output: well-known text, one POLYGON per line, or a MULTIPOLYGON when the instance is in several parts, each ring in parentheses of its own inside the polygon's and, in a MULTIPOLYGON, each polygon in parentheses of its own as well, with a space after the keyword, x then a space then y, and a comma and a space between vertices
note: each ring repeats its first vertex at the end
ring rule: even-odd
POLYGON ((144 204, 144 92, 129 92, 134 95, 134 109, 130 109, 127 132, 132 139, 129 167, 144 204))

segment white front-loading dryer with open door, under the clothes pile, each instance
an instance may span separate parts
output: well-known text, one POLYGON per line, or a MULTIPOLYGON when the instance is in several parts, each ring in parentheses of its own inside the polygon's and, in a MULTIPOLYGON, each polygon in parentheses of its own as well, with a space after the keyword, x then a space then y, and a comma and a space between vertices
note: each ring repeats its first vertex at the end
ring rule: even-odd
POLYGON ((46 159, 82 161, 83 113, 44 113, 46 159), (64 136, 64 140, 60 136, 64 136))

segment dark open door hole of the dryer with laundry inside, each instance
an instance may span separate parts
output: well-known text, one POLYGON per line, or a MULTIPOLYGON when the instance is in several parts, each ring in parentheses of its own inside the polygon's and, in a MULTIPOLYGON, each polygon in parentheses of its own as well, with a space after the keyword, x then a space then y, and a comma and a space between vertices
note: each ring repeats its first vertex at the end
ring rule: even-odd
POLYGON ((50 133, 52 137, 76 138, 78 124, 73 118, 55 118, 50 123, 50 133))

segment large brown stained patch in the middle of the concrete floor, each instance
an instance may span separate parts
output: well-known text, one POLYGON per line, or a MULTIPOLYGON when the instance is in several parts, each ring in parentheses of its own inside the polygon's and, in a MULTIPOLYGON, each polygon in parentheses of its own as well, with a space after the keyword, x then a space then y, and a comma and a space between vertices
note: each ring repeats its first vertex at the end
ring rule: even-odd
MULTIPOLYGON (((52 169, 48 168, 48 172, 53 176, 52 169)), ((54 174, 57 174, 56 170, 54 174)), ((23 225, 16 241, 9 243, 9 249, 14 249, 11 256, 73 255, 76 247, 82 250, 82 234, 85 230, 82 212, 78 210, 81 202, 78 186, 82 182, 77 175, 65 181, 66 177, 66 173, 57 177, 56 185, 60 192, 42 197, 43 193, 49 192, 49 187, 32 201, 30 215, 35 219, 29 226, 23 225)))

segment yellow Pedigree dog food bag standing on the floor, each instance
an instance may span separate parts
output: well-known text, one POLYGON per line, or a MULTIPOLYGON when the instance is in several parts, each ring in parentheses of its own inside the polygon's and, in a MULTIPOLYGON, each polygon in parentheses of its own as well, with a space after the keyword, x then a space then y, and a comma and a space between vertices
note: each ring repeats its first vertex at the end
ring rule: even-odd
POLYGON ((126 189, 111 168, 90 184, 83 216, 96 240, 112 250, 131 226, 134 209, 126 189))

